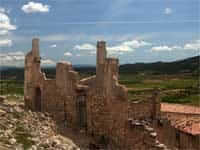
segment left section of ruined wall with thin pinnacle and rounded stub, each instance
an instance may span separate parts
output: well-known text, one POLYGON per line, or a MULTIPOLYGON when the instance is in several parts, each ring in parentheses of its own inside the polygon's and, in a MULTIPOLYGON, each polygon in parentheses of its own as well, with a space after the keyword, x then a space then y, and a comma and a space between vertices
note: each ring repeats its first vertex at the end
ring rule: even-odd
POLYGON ((78 74, 68 62, 59 62, 56 79, 47 79, 40 68, 39 39, 33 39, 32 50, 25 59, 24 99, 27 108, 50 112, 56 120, 75 125, 77 82, 78 74), (37 89, 41 92, 41 108, 36 108, 37 89))

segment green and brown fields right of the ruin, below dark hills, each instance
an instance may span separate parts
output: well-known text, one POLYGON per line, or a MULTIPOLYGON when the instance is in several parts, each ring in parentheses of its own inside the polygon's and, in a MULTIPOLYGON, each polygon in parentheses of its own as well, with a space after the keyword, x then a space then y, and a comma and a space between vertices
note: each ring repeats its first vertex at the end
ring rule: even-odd
POLYGON ((159 88, 163 102, 199 105, 199 81, 196 76, 125 74, 120 76, 120 83, 129 88, 129 100, 143 100, 159 88))

